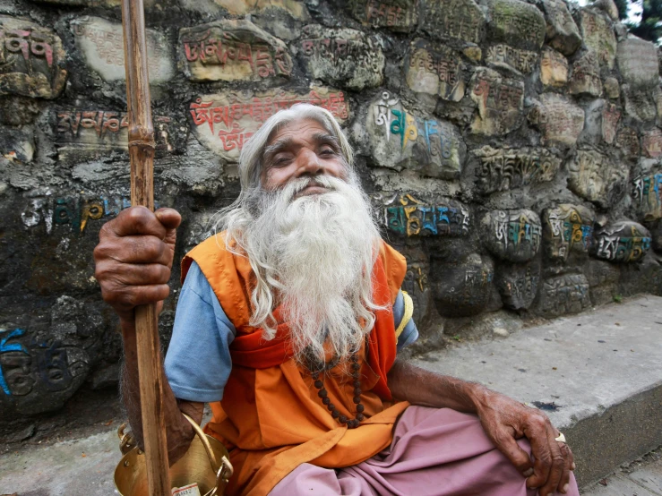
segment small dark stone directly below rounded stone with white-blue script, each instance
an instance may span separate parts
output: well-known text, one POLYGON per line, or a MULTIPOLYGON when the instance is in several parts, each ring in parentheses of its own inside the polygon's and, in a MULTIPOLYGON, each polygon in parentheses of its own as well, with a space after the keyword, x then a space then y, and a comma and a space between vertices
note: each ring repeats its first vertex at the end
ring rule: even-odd
POLYGON ((540 286, 540 264, 504 263, 498 267, 494 282, 503 306, 511 310, 527 309, 536 299, 540 286))

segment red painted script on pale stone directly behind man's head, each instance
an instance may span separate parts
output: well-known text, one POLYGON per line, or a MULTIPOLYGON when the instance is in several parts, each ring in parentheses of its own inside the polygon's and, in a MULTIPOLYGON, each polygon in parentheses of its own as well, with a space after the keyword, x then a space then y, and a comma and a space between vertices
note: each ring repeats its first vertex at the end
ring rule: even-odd
POLYGON ((189 115, 198 140, 221 157, 235 161, 245 141, 264 121, 297 103, 326 108, 340 123, 349 115, 345 94, 328 88, 313 88, 300 93, 270 90, 252 96, 232 91, 205 95, 191 102, 189 115))

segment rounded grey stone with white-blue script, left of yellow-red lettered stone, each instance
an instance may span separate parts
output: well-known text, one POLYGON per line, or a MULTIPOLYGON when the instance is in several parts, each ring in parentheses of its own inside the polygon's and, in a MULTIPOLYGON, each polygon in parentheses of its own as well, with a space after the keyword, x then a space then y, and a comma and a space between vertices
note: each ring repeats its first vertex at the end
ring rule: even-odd
POLYGON ((529 261, 540 248, 543 230, 531 210, 493 210, 481 227, 487 249, 503 261, 529 261))

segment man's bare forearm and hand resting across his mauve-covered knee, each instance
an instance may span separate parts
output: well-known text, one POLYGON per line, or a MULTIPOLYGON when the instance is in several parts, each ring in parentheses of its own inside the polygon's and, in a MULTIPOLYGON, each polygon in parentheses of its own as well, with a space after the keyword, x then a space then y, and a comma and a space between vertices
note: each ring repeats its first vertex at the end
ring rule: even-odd
POLYGON ((428 372, 400 360, 393 364, 387 379, 393 398, 477 414, 494 446, 528 478, 529 488, 540 488, 540 496, 567 492, 570 470, 574 469, 572 452, 565 443, 555 441, 558 431, 536 408, 475 382, 428 372), (533 463, 515 441, 522 437, 531 443, 533 463))

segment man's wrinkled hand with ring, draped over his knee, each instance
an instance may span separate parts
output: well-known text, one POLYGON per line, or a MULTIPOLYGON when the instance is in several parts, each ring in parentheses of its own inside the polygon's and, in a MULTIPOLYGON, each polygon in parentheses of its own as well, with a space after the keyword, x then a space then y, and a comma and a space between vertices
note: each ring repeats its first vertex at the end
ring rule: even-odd
POLYGON ((477 414, 487 436, 527 477, 527 487, 538 488, 540 496, 565 494, 570 471, 574 470, 572 451, 567 444, 555 440, 559 432, 547 415, 494 391, 487 391, 477 403, 477 414), (533 462, 515 441, 522 437, 529 439, 533 462))

